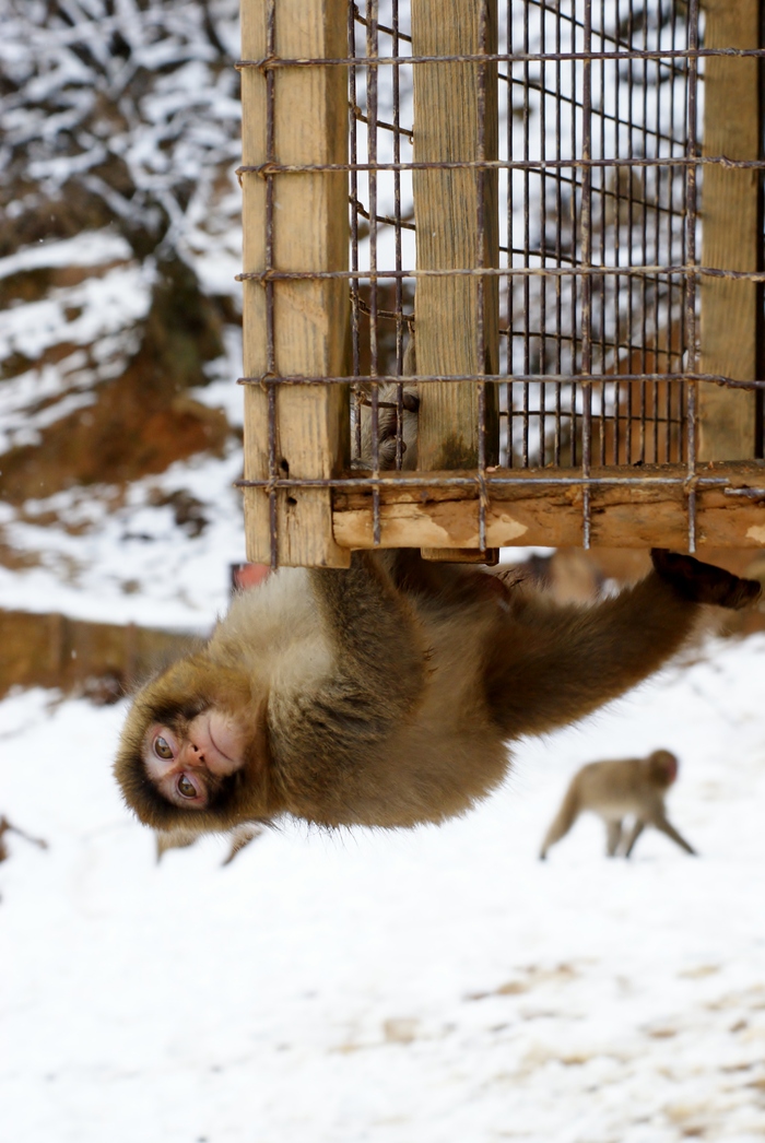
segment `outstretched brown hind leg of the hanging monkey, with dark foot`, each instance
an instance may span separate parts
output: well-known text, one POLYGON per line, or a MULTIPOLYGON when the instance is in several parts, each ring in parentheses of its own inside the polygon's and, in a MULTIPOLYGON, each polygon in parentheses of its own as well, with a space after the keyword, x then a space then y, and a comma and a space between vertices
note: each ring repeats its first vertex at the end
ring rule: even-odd
POLYGON ((489 709, 511 737, 583 718, 658 670, 690 633, 701 604, 739 608, 759 584, 690 555, 652 553, 655 570, 590 608, 518 592, 486 674, 489 709))

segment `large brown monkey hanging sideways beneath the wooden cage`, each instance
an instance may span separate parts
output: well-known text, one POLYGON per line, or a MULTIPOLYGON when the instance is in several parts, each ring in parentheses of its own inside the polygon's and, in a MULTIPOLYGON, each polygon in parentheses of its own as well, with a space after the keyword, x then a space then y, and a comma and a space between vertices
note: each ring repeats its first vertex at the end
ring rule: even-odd
POLYGON ((591 607, 409 551, 282 568, 234 598, 207 646, 135 697, 115 775, 157 830, 293 814, 414 825, 461 814, 507 744, 589 714, 656 670, 703 605, 759 593, 687 555, 591 607))

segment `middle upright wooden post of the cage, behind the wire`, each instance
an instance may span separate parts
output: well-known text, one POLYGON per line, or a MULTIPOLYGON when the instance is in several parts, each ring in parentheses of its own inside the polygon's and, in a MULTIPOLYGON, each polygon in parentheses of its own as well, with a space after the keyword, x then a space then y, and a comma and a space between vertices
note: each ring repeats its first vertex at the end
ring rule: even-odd
MULTIPOLYGON (((496 53, 496 0, 472 3, 412 0, 412 50, 415 56, 496 53)), ((415 64, 415 161, 496 159, 496 83, 495 63, 415 64)), ((496 169, 415 170, 417 269, 499 266, 497 201, 496 169)), ((417 373, 445 377, 497 373, 496 277, 479 279, 456 274, 417 279, 415 330, 417 373)), ((495 464, 499 455, 495 384, 486 385, 486 463, 495 464)), ((419 467, 425 471, 478 467, 478 385, 475 382, 444 381, 421 386, 417 455, 419 467)), ((465 554, 464 551, 423 550, 423 555, 431 559, 464 559, 465 554)))

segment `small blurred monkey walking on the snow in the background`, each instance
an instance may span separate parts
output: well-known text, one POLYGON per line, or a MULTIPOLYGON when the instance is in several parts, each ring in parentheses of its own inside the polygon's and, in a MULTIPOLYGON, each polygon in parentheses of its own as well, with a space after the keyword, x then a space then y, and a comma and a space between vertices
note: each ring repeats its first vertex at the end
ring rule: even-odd
POLYGON ((622 844, 622 821, 633 817, 624 838, 624 856, 629 857, 646 825, 653 825, 671 838, 687 854, 695 855, 667 817, 664 794, 677 781, 678 761, 669 750, 654 750, 647 758, 628 758, 615 762, 590 762, 574 775, 563 805, 542 845, 540 857, 571 830, 580 814, 590 810, 606 825, 606 853, 614 857, 622 844))

